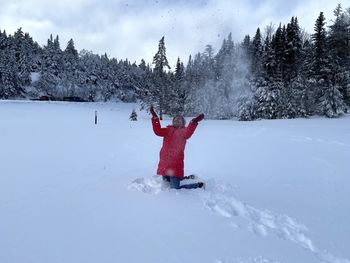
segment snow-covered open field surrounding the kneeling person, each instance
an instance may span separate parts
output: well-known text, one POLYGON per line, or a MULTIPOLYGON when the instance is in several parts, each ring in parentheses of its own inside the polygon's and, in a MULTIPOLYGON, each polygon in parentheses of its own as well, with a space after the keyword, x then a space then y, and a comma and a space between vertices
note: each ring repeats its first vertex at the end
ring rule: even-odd
POLYGON ((350 116, 205 120, 176 191, 133 107, 0 102, 0 262, 350 262, 350 116))

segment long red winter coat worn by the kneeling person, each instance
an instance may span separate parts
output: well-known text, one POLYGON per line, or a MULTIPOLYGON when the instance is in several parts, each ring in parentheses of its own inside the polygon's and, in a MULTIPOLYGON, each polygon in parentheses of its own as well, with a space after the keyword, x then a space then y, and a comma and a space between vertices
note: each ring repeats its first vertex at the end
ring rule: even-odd
POLYGON ((184 151, 186 140, 189 139, 197 128, 197 123, 190 122, 187 127, 174 128, 168 126, 161 128, 159 119, 152 118, 153 131, 163 137, 163 146, 160 150, 158 175, 170 175, 178 178, 184 177, 184 151))

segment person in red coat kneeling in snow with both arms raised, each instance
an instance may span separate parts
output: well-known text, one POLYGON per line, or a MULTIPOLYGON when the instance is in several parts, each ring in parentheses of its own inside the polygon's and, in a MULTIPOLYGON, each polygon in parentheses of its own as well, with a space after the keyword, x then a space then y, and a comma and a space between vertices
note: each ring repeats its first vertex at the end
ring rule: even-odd
POLYGON ((150 108, 150 112, 152 114, 154 133, 163 137, 157 174, 163 176, 163 180, 169 182, 171 188, 193 189, 204 187, 203 182, 180 185, 181 180, 194 178, 193 175, 184 176, 184 151, 186 141, 196 130, 198 122, 204 119, 204 114, 200 114, 198 117, 192 119, 187 127, 185 127, 186 122, 184 117, 177 115, 173 118, 173 125, 162 128, 153 107, 150 108))

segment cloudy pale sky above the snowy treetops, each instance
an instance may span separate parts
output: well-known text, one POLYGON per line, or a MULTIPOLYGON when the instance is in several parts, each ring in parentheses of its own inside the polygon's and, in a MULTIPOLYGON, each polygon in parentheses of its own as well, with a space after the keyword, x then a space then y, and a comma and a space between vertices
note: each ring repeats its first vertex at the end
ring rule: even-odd
POLYGON ((62 49, 73 38, 78 50, 137 63, 151 63, 165 36, 173 67, 178 56, 187 62, 207 44, 216 52, 230 32, 241 42, 292 16, 312 33, 320 11, 330 23, 338 3, 350 7, 350 0, 0 0, 0 29, 13 34, 22 27, 40 45, 59 35, 62 49))

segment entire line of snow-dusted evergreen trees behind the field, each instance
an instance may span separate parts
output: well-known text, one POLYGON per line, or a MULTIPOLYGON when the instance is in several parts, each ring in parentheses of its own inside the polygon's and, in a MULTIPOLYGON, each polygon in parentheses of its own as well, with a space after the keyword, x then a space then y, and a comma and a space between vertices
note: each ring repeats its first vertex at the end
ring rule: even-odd
POLYGON ((350 107, 350 8, 338 5, 331 24, 323 12, 314 32, 297 17, 287 25, 258 28, 218 52, 207 45, 171 69, 165 39, 151 65, 82 50, 71 39, 61 49, 51 35, 41 47, 18 29, 0 30, 0 98, 80 98, 85 101, 140 101, 163 114, 256 120, 312 115, 337 117, 350 107))

